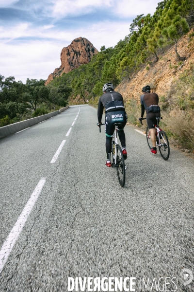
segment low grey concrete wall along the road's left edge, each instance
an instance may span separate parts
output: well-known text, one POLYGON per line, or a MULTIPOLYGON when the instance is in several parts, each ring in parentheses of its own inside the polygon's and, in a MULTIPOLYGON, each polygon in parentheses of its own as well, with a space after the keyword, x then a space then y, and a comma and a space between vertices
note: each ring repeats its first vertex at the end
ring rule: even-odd
POLYGON ((6 136, 9 136, 11 134, 14 134, 16 132, 19 132, 21 130, 24 130, 25 128, 29 128, 37 123, 43 122, 43 121, 61 113, 62 111, 67 110, 68 108, 69 108, 69 106, 67 106, 63 109, 60 109, 60 110, 56 110, 56 111, 53 111, 53 112, 50 112, 47 114, 43 114, 41 116, 38 116, 38 117, 35 117, 32 119, 28 119, 28 120, 14 123, 14 124, 11 124, 8 126, 0 127, 0 139, 4 138, 6 136))

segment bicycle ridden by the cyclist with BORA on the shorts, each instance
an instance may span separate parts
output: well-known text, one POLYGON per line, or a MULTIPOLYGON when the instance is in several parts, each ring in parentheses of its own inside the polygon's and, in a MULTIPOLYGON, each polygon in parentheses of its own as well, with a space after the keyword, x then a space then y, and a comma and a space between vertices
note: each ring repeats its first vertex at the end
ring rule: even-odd
MULTIPOLYGON (((99 132, 101 132, 100 126, 104 124, 98 124, 99 127, 99 132)), ((113 133, 113 140, 112 140, 112 157, 111 157, 111 163, 112 167, 116 168, 117 176, 118 176, 118 181, 121 186, 125 185, 125 171, 127 169, 127 164, 125 164, 123 152, 121 149, 121 146, 118 144, 117 140, 117 130, 118 130, 118 125, 115 123, 115 130, 113 133)))

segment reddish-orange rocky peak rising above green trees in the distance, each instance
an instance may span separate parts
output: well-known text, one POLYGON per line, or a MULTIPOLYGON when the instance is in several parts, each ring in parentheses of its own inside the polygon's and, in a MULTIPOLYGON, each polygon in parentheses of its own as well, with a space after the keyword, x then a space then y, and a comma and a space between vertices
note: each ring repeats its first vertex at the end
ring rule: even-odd
POLYGON ((89 63, 97 53, 97 49, 87 38, 75 38, 68 47, 62 49, 61 66, 49 75, 45 84, 49 84, 51 80, 63 73, 68 73, 82 64, 89 63))

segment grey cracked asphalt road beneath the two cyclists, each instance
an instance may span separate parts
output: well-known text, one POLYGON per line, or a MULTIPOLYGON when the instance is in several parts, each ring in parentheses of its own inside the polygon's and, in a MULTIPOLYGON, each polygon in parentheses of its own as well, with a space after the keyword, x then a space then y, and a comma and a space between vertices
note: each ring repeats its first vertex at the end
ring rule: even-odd
POLYGON ((66 292, 68 277, 135 277, 134 291, 163 291, 163 277, 164 291, 194 291, 194 280, 184 285, 192 275, 182 277, 182 269, 194 274, 194 160, 171 148, 164 161, 127 125, 122 188, 105 166, 104 129, 96 123, 96 109, 73 106, 0 140, 0 254, 45 182, 1 265, 0 292, 66 292), (150 281, 144 290, 143 278, 150 281))

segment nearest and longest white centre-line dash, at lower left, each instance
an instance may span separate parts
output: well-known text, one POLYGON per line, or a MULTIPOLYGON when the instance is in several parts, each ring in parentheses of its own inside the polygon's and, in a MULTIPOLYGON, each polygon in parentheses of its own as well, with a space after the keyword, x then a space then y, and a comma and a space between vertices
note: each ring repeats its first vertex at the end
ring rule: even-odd
POLYGON ((40 182, 36 185, 30 199, 28 200, 26 206, 24 207, 23 211, 21 212, 19 218, 16 221, 16 224, 12 228, 10 234, 8 235, 7 239, 3 243, 1 250, 0 250, 0 273, 12 251, 12 248, 14 247, 14 244, 16 243, 16 240, 22 231, 22 228, 30 215, 30 212, 38 199, 38 196, 40 195, 40 192, 46 182, 45 178, 42 178, 40 182))

